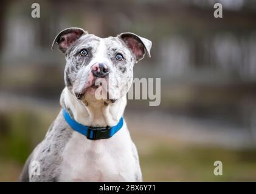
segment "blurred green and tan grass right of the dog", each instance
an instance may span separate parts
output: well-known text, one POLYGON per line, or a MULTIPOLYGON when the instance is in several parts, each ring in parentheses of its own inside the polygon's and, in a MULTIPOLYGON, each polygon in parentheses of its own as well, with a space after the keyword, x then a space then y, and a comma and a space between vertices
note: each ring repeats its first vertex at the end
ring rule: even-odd
POLYGON ((152 136, 136 138, 136 144, 144 181, 256 181, 255 149, 220 149, 164 137, 153 141, 152 136), (213 173, 215 161, 223 162, 222 176, 213 173))

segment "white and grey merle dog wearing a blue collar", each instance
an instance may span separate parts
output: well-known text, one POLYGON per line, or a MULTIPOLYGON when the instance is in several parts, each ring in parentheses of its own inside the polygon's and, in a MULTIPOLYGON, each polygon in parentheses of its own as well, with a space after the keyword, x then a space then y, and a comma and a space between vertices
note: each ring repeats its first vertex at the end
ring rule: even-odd
POLYGON ((151 41, 134 33, 99 38, 82 28, 62 30, 52 44, 66 58, 62 110, 23 167, 20 181, 142 181, 139 157, 123 112, 133 66, 151 41), (109 85, 105 99, 95 96, 109 85))

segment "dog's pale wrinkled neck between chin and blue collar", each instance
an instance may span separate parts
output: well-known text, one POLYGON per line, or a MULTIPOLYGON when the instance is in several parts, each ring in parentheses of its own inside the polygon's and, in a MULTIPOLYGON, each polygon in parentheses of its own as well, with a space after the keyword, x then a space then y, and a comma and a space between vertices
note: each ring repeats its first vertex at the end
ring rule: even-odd
POLYGON ((126 106, 126 96, 118 99, 113 104, 103 101, 83 102, 75 98, 67 87, 61 93, 60 104, 71 114, 75 121, 86 126, 106 127, 114 126, 119 122, 126 106))

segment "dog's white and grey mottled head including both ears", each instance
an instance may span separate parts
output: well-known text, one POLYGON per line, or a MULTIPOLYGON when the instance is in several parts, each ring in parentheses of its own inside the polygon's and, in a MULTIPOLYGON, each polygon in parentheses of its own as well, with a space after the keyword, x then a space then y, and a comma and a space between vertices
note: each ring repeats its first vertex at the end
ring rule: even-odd
POLYGON ((99 38, 81 28, 67 28, 55 38, 66 56, 64 81, 81 101, 103 98, 114 102, 133 82, 133 65, 150 56, 151 41, 133 33, 99 38), (105 94, 105 95, 104 95, 105 94), (98 95, 98 96, 97 96, 98 95))

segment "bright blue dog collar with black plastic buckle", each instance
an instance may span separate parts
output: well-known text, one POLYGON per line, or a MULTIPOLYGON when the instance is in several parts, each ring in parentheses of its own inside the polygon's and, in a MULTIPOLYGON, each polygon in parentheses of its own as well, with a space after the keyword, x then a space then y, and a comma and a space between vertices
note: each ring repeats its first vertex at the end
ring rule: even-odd
POLYGON ((64 119, 73 130, 85 135, 88 139, 91 140, 111 138, 123 127, 123 117, 121 117, 117 125, 113 127, 88 127, 72 119, 64 108, 62 109, 62 112, 64 119))

